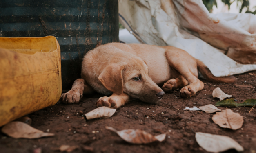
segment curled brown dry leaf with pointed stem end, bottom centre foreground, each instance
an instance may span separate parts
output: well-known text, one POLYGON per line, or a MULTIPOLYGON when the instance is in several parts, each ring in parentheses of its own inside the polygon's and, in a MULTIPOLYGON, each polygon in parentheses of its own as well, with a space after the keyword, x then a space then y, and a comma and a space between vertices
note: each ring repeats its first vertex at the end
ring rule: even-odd
POLYGON ((133 144, 147 144, 154 141, 160 141, 162 142, 165 140, 166 134, 160 134, 158 136, 153 136, 145 131, 139 130, 139 129, 127 129, 122 131, 117 131, 113 127, 106 127, 106 129, 109 129, 111 131, 116 132, 123 140, 129 143, 133 144))

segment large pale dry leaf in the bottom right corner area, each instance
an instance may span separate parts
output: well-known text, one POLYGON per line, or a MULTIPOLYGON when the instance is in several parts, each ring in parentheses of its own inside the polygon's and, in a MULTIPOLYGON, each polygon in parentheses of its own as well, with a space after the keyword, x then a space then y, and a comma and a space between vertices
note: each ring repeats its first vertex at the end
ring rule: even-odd
POLYGON ((240 144, 228 136, 196 132, 196 142, 211 153, 219 153, 229 149, 236 149, 238 152, 244 151, 240 144))

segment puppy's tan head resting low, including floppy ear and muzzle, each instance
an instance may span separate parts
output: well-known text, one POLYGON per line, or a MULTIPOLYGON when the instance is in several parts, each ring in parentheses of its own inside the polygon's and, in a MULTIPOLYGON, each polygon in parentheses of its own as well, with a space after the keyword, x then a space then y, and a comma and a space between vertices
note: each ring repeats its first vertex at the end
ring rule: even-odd
POLYGON ((112 59, 98 79, 111 92, 125 92, 132 98, 147 103, 156 103, 165 94, 149 77, 147 64, 135 55, 119 55, 112 59))

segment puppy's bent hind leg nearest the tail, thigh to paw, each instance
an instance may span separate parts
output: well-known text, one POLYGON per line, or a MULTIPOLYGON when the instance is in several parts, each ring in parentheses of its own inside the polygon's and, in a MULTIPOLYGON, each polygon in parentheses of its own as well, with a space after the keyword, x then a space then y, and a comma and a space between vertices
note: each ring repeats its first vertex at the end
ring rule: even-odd
POLYGON ((196 59, 185 50, 175 47, 165 47, 165 52, 169 66, 176 69, 186 80, 188 85, 180 90, 180 96, 188 98, 194 96, 196 92, 202 90, 204 84, 198 79, 196 59))

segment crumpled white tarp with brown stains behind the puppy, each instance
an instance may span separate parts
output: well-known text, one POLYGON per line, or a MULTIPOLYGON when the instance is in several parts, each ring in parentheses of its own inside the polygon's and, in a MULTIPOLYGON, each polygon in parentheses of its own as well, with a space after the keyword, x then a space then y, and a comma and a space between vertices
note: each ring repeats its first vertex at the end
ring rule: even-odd
POLYGON ((256 70, 255 15, 210 14, 202 0, 118 1, 120 23, 141 43, 181 48, 215 76, 256 70))

